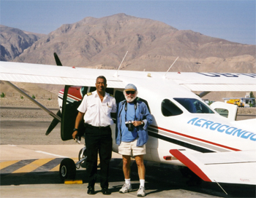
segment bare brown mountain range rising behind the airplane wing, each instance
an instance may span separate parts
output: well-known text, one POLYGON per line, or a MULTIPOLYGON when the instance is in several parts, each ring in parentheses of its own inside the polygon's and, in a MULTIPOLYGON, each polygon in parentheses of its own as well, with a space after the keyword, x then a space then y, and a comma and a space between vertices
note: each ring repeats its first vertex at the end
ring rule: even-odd
POLYGON ((64 66, 200 72, 255 73, 255 45, 239 44, 178 30, 165 23, 125 14, 86 17, 48 35, 1 25, 1 60, 64 66))

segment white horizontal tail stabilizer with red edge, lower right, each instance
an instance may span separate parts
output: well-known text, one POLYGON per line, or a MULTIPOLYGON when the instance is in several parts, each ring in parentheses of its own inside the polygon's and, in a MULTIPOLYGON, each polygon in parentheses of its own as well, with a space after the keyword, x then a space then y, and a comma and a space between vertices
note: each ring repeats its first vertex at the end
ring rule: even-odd
POLYGON ((256 150, 189 154, 172 149, 170 154, 204 181, 256 184, 256 150))

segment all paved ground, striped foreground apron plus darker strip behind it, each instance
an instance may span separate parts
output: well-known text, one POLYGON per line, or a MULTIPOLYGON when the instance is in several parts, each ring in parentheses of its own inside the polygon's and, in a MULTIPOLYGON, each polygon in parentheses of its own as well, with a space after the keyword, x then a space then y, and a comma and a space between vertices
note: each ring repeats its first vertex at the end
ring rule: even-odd
MULTIPOLYGON (((59 165, 62 159, 71 158, 78 162, 78 153, 83 144, 73 140, 62 141, 60 124, 46 136, 50 119, 26 118, 27 114, 36 115, 37 109, 21 109, 21 117, 13 117, 16 108, 0 108, 0 197, 106 197, 101 192, 99 177, 95 184, 97 194, 86 194, 88 175, 86 168, 76 170, 75 181, 80 184, 65 184, 59 177, 59 165)), ((157 162, 144 162, 146 166, 146 197, 256 197, 256 188, 252 185, 228 183, 209 183, 188 185, 189 178, 181 175, 177 166, 157 162)), ((98 168, 98 175, 100 167, 98 168)), ((124 184, 122 160, 113 153, 110 161, 109 189, 107 197, 137 197, 139 178, 137 165, 131 164, 132 191, 120 194, 124 184)))

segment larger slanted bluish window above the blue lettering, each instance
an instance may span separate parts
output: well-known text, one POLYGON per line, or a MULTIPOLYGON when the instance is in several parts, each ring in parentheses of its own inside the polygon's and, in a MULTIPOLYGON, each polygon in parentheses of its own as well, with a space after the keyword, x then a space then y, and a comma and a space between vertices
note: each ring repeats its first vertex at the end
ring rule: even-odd
POLYGON ((192 114, 214 114, 211 108, 195 98, 173 98, 192 114))

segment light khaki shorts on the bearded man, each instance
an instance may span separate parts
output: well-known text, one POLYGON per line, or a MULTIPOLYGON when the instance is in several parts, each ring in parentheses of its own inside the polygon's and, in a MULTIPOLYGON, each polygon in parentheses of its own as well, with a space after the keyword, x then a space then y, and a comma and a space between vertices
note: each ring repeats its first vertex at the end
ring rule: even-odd
POLYGON ((128 156, 137 156, 146 154, 146 144, 143 146, 136 146, 137 140, 135 139, 132 142, 121 142, 118 146, 118 154, 128 155, 128 156))

